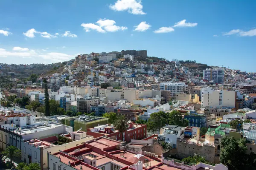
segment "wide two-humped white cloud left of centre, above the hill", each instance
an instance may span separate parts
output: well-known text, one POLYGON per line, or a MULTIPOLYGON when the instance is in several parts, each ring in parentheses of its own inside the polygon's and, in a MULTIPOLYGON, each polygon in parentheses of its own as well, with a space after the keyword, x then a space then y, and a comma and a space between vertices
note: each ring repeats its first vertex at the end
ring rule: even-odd
POLYGON ((108 19, 99 19, 96 24, 98 24, 99 26, 97 26, 96 24, 93 24, 93 23, 82 23, 81 26, 84 27, 84 30, 86 32, 89 32, 91 30, 96 30, 100 33, 105 33, 106 31, 107 32, 116 32, 116 31, 119 31, 119 30, 126 30, 128 29, 127 27, 125 26, 116 26, 114 25, 116 22, 114 20, 108 20, 108 19))

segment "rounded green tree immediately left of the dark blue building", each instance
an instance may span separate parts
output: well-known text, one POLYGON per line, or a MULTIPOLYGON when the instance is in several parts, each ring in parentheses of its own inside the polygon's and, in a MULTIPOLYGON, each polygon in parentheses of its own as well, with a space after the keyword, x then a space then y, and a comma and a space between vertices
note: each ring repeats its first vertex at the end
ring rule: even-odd
POLYGON ((169 113, 169 125, 186 127, 189 125, 189 122, 182 118, 179 111, 172 111, 169 113))

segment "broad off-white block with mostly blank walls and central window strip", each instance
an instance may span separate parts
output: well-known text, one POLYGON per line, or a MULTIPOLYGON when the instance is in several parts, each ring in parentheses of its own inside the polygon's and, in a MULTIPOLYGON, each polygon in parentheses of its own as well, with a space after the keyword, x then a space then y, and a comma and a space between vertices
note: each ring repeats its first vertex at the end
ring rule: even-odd
POLYGON ((213 90, 212 88, 202 88, 202 107, 228 107, 236 108, 236 91, 213 90))

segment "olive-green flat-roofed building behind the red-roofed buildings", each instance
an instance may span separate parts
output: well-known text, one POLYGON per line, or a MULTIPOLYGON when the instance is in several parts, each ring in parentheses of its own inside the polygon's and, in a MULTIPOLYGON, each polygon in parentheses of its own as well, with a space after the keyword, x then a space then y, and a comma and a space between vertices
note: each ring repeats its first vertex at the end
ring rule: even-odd
POLYGON ((97 116, 73 116, 65 119, 65 124, 73 127, 73 130, 81 130, 86 132, 87 129, 93 128, 98 125, 108 124, 108 118, 97 116))

